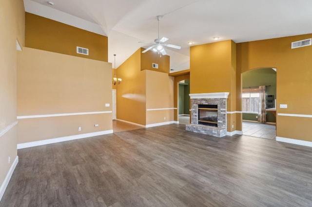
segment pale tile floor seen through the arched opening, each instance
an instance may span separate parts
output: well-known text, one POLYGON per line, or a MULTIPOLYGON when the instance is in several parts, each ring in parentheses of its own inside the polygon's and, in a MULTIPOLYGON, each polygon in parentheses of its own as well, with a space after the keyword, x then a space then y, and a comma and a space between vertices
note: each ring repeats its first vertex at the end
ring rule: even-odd
POLYGON ((243 135, 275 140, 275 125, 243 121, 243 135))

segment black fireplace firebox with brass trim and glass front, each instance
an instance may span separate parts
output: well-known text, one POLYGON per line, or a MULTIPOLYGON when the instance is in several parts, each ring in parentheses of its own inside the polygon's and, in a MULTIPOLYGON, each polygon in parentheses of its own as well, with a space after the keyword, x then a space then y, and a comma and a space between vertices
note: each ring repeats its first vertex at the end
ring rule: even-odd
POLYGON ((218 126, 218 105, 198 104, 198 124, 218 126))

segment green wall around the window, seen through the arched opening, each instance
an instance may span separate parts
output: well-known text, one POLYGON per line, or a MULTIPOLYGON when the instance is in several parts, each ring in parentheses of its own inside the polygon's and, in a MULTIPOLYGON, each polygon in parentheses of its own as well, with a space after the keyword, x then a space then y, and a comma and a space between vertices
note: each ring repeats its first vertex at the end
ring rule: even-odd
MULTIPOLYGON (((244 88, 255 86, 267 86, 266 95, 274 95, 276 99, 276 72, 271 68, 254 69, 242 74, 242 86, 244 88)), ((276 106, 275 106, 276 107, 276 106)), ((257 121, 257 114, 243 113, 243 120, 257 121)), ((267 112, 267 122, 276 122, 275 116, 267 112)))

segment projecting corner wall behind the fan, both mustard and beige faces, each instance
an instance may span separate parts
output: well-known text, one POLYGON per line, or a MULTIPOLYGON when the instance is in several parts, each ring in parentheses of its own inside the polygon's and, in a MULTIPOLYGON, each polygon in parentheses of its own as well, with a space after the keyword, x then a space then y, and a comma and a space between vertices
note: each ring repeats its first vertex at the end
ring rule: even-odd
POLYGON ((160 57, 152 51, 142 53, 143 50, 138 49, 116 70, 117 77, 122 79, 116 86, 117 119, 140 125, 173 121, 173 109, 146 110, 173 108, 174 79, 168 76, 170 57, 160 57), (152 63, 159 64, 159 68, 152 69, 152 63))

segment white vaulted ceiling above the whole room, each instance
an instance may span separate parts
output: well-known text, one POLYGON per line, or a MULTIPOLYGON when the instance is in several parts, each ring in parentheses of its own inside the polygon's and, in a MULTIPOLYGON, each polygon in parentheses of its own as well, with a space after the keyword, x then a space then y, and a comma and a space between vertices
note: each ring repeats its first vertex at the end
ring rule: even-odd
POLYGON ((168 49, 170 68, 189 69, 193 45, 232 39, 247 42, 312 33, 312 0, 24 0, 25 11, 108 36, 108 61, 116 67, 160 37, 182 46, 168 49))

